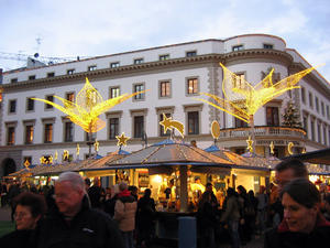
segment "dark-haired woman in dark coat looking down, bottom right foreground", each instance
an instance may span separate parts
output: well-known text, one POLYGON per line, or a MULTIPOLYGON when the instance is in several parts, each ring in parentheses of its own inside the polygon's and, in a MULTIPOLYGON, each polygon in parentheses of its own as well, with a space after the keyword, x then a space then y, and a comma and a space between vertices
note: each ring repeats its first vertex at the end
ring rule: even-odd
POLYGON ((265 248, 329 246, 330 223, 320 213, 320 193, 311 182, 296 179, 287 183, 280 198, 284 219, 277 228, 266 233, 265 248))

